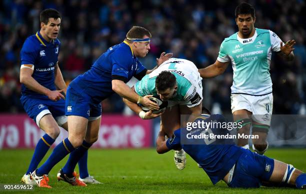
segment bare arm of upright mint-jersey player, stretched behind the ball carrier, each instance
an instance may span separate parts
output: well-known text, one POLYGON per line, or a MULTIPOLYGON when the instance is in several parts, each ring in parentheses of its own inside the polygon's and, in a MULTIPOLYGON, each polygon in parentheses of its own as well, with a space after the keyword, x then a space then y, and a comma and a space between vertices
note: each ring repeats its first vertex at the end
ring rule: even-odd
POLYGON ((198 69, 200 76, 202 78, 215 77, 219 74, 222 74, 227 68, 229 62, 220 62, 215 60, 215 62, 205 68, 198 69))

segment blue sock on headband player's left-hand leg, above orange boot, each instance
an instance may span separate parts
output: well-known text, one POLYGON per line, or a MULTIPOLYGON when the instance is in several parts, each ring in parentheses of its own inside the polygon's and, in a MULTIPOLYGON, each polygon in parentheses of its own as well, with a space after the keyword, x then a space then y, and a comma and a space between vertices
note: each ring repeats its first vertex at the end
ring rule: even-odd
POLYGON ((62 140, 52 151, 49 158, 36 170, 37 175, 48 174, 52 167, 63 159, 68 153, 72 152, 74 147, 68 140, 65 138, 62 140))

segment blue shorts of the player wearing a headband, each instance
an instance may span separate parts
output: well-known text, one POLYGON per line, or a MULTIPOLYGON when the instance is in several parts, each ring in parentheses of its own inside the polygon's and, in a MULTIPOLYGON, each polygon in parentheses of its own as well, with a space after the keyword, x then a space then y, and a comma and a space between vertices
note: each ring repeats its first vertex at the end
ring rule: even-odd
POLYGON ((69 85, 66 93, 65 114, 94 120, 101 116, 101 104, 93 103, 89 95, 84 92, 80 93, 69 85))

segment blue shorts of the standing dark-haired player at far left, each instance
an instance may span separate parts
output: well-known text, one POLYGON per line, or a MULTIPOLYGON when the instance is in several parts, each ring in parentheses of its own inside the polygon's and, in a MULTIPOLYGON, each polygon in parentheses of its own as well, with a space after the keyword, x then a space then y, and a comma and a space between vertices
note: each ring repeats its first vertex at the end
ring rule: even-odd
POLYGON ((52 101, 45 96, 21 95, 21 104, 29 117, 31 117, 39 127, 40 119, 46 114, 52 114, 58 125, 67 121, 65 117, 65 100, 52 101))

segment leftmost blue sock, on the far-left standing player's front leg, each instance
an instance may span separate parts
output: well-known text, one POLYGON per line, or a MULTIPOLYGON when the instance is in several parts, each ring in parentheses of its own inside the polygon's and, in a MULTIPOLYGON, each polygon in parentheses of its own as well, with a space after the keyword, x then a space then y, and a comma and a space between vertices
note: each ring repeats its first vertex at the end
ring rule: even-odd
POLYGON ((50 137, 48 134, 44 134, 36 144, 32 160, 28 166, 25 174, 30 174, 33 172, 38 163, 41 161, 45 153, 49 150, 50 146, 54 143, 55 139, 50 137))

